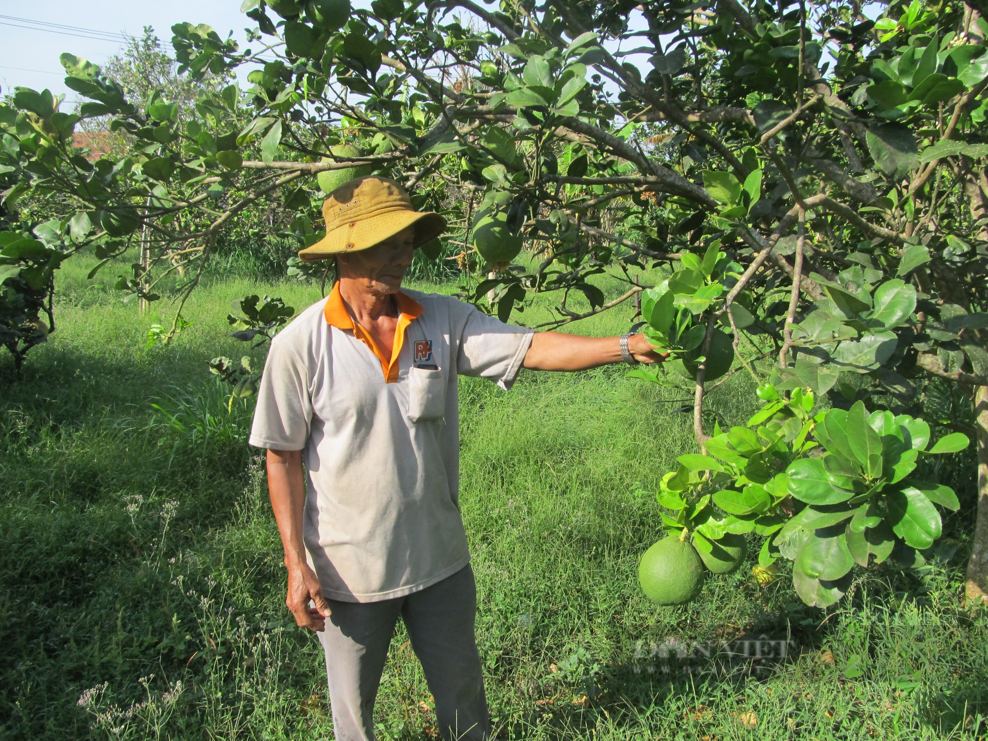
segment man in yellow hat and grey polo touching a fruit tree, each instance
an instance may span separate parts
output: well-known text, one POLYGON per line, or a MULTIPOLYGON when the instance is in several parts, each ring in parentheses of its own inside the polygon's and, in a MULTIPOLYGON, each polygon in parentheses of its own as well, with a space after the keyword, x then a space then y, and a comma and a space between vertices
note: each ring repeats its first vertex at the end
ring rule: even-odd
POLYGON ((373 739, 400 615, 446 738, 489 736, 476 590, 458 507, 456 375, 511 387, 521 367, 654 363, 640 335, 593 339, 504 324, 449 296, 402 291, 416 247, 446 228, 401 187, 359 178, 323 205, 339 281, 272 342, 250 443, 268 449, 286 604, 319 633, 340 741, 373 739), (303 464, 304 462, 304 472, 303 464))

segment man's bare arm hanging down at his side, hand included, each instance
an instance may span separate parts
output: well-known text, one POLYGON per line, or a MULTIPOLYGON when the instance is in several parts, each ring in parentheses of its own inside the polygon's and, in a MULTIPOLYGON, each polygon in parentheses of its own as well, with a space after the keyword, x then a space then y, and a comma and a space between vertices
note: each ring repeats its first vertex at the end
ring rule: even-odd
POLYGON ((285 604, 301 627, 323 630, 329 606, 322 596, 319 578, 305 560, 302 512, 305 507, 305 475, 301 451, 268 450, 268 492, 275 511, 278 532, 285 548, 288 596, 285 604), (315 604, 309 607, 309 601, 315 604))

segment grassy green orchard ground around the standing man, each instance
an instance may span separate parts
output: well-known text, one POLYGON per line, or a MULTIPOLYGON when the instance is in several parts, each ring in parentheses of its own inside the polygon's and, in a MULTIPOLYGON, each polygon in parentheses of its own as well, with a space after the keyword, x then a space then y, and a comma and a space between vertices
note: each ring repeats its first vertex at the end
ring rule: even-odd
MULTIPOLYGON (((56 333, 23 380, 0 380, 0 738, 331 738, 322 655, 284 606, 262 458, 244 443, 251 407, 227 414, 206 370, 250 354, 229 338, 230 300, 269 293, 300 310, 319 288, 213 281, 188 304, 194 325, 145 347, 168 304, 138 313, 109 287, 114 266, 86 280, 93 263, 66 263, 56 333)), ((546 306, 517 318, 544 321, 546 306)), ((630 312, 567 329, 618 334, 630 312)), ((259 366, 264 350, 252 355, 259 366)), ((752 555, 690 605, 645 599, 635 568, 661 535, 654 492, 696 446, 676 411, 689 397, 620 367, 523 371, 509 393, 460 379, 461 505, 496 736, 983 737, 988 619, 960 602, 971 481, 952 482, 963 506, 930 565, 859 574, 830 611, 799 602, 787 573, 759 584, 752 555)), ((750 378, 708 404, 722 426, 743 423, 750 378)), ((399 628, 379 738, 431 735, 430 702, 399 628)))

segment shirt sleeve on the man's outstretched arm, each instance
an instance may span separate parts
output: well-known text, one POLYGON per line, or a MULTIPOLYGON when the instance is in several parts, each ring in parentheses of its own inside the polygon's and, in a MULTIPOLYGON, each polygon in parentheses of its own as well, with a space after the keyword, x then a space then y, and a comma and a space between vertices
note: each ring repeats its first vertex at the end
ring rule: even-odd
POLYGON ((505 324, 468 303, 456 303, 461 327, 456 372, 488 378, 501 388, 511 388, 529 352, 534 332, 505 324))

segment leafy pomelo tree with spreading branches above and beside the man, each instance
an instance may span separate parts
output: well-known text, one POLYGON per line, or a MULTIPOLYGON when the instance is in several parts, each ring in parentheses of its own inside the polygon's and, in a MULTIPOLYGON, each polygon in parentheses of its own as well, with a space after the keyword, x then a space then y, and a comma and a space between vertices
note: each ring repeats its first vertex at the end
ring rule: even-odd
POLYGON ((443 208, 454 246, 478 212, 540 246, 531 269, 472 287, 502 318, 534 291, 560 296, 549 326, 639 296, 674 361, 631 374, 689 386, 701 450, 663 479, 662 527, 704 560, 757 533, 763 567, 791 559, 800 597, 830 605, 856 564, 922 559, 959 505, 936 456, 974 438, 966 591, 983 601, 988 22, 973 0, 867 8, 247 0, 250 50, 173 28, 193 76, 251 70, 247 89, 204 92, 187 120, 65 54, 66 84, 90 101, 78 112, 26 89, 0 107, 5 205, 71 206, 0 234, 4 300, 49 290, 82 247, 110 258, 138 233, 151 259, 118 287, 153 300, 182 265, 188 295, 218 235, 260 200, 280 199, 310 244, 318 173, 370 166, 443 208), (130 137, 125 156, 72 147, 96 116, 130 137), (653 263, 668 277, 643 286, 653 263), (589 281, 604 272, 627 283, 608 302, 589 281), (735 372, 764 406, 722 430, 703 402, 735 372), (947 434, 933 441, 931 423, 947 434))

